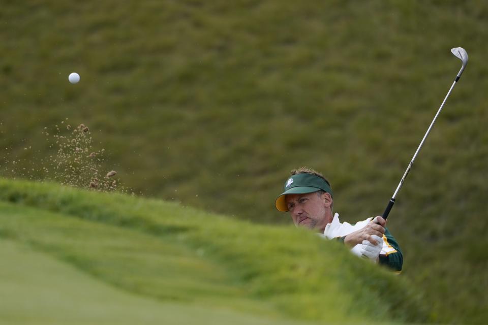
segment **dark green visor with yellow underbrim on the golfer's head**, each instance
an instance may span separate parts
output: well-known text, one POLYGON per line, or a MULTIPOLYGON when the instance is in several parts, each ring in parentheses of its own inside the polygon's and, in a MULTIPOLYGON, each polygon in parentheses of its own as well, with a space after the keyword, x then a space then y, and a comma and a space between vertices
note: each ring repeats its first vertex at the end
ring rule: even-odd
POLYGON ((285 191, 276 199, 275 206, 278 211, 286 212, 288 211, 285 200, 287 194, 306 194, 321 189, 332 196, 332 189, 330 188, 329 183, 322 177, 309 173, 293 175, 286 181, 285 191))

